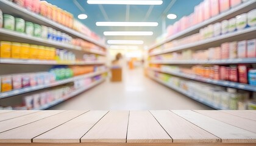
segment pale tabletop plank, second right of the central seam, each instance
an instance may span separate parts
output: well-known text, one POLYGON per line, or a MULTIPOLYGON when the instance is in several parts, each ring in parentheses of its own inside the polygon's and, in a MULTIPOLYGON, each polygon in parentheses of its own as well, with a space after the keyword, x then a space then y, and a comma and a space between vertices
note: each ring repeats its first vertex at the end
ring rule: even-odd
POLYGON ((150 111, 173 142, 220 142, 213 134, 197 127, 171 111, 150 111))

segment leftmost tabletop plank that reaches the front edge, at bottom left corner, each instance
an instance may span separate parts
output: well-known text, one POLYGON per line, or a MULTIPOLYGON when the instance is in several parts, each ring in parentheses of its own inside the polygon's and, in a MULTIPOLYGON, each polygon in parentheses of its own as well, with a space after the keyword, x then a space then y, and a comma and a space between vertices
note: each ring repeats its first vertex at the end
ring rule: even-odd
POLYGON ((45 133, 46 131, 49 131, 52 128, 55 128, 85 112, 86 111, 65 111, 63 113, 55 114, 54 116, 46 117, 18 128, 5 131, 4 133, 0 133, 0 142, 30 143, 32 138, 45 133))

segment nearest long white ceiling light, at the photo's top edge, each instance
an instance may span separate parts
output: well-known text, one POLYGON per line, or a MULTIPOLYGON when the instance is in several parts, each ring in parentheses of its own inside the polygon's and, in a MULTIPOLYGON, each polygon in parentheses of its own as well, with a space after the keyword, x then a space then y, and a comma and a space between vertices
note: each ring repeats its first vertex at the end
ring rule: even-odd
POLYGON ((124 4, 124 5, 162 5, 162 0, 156 0, 156 1, 141 1, 141 0, 88 0, 88 4, 124 4))

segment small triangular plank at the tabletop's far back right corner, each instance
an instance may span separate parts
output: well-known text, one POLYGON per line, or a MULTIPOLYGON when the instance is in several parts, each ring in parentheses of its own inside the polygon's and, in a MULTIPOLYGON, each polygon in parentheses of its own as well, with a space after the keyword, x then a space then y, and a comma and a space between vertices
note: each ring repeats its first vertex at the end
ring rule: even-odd
POLYGON ((228 114, 233 114, 235 116, 238 117, 244 117, 246 119, 250 119, 250 120, 256 120, 256 113, 252 113, 252 112, 247 112, 247 111, 240 111, 240 110, 225 110, 222 111, 228 114))

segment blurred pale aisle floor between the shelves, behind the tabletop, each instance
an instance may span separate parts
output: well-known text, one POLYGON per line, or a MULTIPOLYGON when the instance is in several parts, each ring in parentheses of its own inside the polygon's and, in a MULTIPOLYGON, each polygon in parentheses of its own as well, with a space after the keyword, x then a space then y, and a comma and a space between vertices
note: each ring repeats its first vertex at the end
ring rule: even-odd
POLYGON ((141 68, 125 72, 123 82, 106 80, 50 109, 212 109, 145 77, 141 68))

